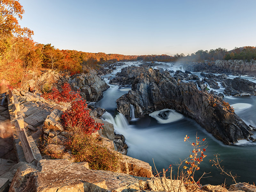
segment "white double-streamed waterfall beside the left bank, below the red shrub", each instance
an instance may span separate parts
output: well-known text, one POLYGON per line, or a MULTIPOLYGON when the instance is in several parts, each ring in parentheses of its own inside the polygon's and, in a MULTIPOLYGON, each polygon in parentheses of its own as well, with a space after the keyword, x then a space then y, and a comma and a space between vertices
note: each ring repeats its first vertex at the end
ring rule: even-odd
POLYGON ((104 120, 104 121, 107 121, 109 123, 112 123, 114 125, 114 128, 117 132, 122 132, 122 130, 124 129, 128 129, 128 121, 127 119, 125 118, 125 116, 122 114, 122 113, 118 113, 115 118, 108 112, 105 112, 101 118, 104 120))

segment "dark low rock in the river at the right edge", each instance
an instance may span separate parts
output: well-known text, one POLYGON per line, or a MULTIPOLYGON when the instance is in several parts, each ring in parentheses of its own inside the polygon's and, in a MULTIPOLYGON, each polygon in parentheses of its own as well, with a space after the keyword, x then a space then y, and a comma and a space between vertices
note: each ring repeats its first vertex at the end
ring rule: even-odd
POLYGON ((221 85, 225 87, 224 93, 227 95, 256 95, 256 84, 246 79, 225 79, 221 85))

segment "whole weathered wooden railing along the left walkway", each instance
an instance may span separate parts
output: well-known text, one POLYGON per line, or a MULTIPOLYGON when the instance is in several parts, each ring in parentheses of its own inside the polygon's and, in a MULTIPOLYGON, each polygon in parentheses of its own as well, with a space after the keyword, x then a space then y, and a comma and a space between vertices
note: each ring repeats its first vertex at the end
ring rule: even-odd
POLYGON ((33 160, 35 160, 36 159, 35 152, 37 153, 37 157, 40 159, 41 155, 38 148, 36 147, 34 140, 33 139, 31 140, 30 138, 31 136, 28 137, 26 130, 24 129, 24 119, 20 112, 20 103, 16 95, 14 95, 11 90, 9 90, 8 106, 9 106, 11 123, 13 123, 15 126, 16 134, 20 139, 26 161, 28 163, 31 163, 33 160), (33 145, 33 147, 31 147, 31 145, 33 145))

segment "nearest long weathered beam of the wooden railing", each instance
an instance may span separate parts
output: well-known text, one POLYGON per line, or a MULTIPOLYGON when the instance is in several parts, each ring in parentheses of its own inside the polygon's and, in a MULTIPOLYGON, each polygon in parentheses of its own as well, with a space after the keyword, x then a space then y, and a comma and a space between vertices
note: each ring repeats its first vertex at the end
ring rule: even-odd
POLYGON ((36 156, 32 150, 32 147, 30 146, 30 143, 28 142, 27 133, 23 128, 20 127, 20 123, 18 120, 15 122, 15 127, 16 129, 20 130, 19 138, 25 154, 26 161, 28 163, 31 163, 34 159, 36 159, 36 156))

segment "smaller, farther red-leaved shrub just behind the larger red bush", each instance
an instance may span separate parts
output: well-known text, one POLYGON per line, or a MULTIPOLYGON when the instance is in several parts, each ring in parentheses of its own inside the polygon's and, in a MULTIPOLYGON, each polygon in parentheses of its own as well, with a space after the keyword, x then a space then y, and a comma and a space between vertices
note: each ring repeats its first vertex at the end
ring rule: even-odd
POLYGON ((44 99, 50 99, 56 103, 71 102, 76 99, 81 99, 81 95, 79 94, 79 92, 72 91, 68 83, 64 83, 63 86, 61 86, 61 89, 61 92, 59 92, 59 90, 56 88, 52 88, 52 90, 48 93, 44 92, 44 99))

